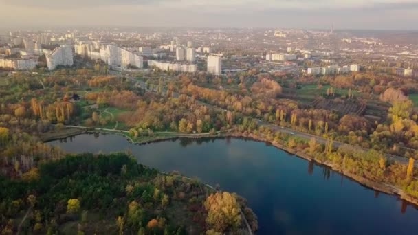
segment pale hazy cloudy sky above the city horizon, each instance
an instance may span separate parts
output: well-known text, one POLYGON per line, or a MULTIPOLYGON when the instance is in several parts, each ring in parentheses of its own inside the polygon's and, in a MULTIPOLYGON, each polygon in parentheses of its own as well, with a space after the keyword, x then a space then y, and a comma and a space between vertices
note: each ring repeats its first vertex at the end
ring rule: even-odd
POLYGON ((0 27, 418 30, 418 0, 0 0, 0 27))

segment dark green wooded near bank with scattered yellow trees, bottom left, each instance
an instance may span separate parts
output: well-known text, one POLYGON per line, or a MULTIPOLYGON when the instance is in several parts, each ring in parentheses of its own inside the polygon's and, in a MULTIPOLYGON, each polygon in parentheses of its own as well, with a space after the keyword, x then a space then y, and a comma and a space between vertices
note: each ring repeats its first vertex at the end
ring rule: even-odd
POLYGON ((0 186, 2 234, 247 234, 245 214, 256 229, 237 195, 162 174, 123 153, 68 155, 21 179, 1 177, 0 186))

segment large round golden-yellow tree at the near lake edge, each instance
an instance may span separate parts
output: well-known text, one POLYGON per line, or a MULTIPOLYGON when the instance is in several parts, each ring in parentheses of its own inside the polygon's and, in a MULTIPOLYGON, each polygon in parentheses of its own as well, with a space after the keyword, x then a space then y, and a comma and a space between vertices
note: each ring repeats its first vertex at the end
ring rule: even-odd
POLYGON ((211 194, 204 205, 208 211, 206 222, 217 232, 226 232, 241 225, 240 205, 233 194, 229 192, 211 194))

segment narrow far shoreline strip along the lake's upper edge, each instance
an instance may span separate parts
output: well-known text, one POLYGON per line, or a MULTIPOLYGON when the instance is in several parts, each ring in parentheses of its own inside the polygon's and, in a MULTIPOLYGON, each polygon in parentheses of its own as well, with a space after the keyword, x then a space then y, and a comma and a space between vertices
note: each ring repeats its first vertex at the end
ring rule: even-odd
POLYGON ((406 194, 404 190, 401 188, 398 188, 396 186, 390 185, 388 183, 383 182, 376 182, 372 181, 370 179, 366 179, 365 177, 362 177, 360 175, 355 175, 350 172, 344 172, 340 167, 334 166, 331 163, 328 163, 326 161, 320 161, 318 159, 315 159, 314 157, 311 157, 307 153, 304 152, 297 152, 296 150, 293 150, 292 148, 287 148, 285 146, 282 146, 281 144, 270 142, 269 140, 259 137, 256 135, 245 135, 243 133, 217 133, 217 134, 209 134, 208 135, 193 135, 193 134, 185 134, 185 135, 175 135, 175 136, 162 136, 162 137, 154 137, 153 139, 147 139, 139 142, 133 141, 131 137, 125 135, 124 133, 120 132, 109 132, 109 131, 100 131, 100 130, 78 130, 78 133, 72 133, 72 135, 69 135, 67 133, 63 133, 62 135, 56 135, 56 138, 50 138, 47 141, 43 142, 52 142, 54 140, 60 140, 60 139, 66 139, 68 137, 74 137, 76 135, 81 135, 84 133, 94 134, 94 133, 100 133, 100 134, 111 134, 111 135, 120 135, 122 137, 125 137, 126 140, 131 144, 137 144, 137 145, 144 145, 144 144, 152 144, 157 142, 164 142, 168 140, 175 140, 175 139, 204 139, 204 138, 226 138, 226 137, 236 137, 236 138, 243 138, 243 139, 249 139, 256 142, 264 142, 265 144, 269 144, 271 146, 274 146, 275 148, 278 148, 280 150, 285 151, 286 153, 290 155, 294 155, 296 157, 300 157, 302 159, 305 159, 307 161, 314 161, 316 164, 320 164, 322 166, 326 166, 330 168, 333 171, 336 171, 340 173, 341 175, 344 175, 345 177, 348 177, 349 179, 360 183, 360 185, 370 188, 373 190, 377 190, 379 192, 383 192, 386 194, 390 194, 393 196, 397 196, 399 199, 403 199, 404 201, 408 201, 408 203, 411 203, 412 205, 415 205, 415 207, 418 207, 418 199, 411 197, 410 195, 406 194))

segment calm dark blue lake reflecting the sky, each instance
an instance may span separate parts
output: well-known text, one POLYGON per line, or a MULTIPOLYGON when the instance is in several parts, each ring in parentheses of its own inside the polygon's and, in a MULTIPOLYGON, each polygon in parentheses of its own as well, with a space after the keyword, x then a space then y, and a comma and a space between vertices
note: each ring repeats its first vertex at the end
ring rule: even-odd
POLYGON ((50 142, 69 153, 129 150, 144 165, 198 177, 245 197, 258 234, 416 234, 418 210, 327 167, 244 139, 177 139, 130 144, 118 135, 50 142))

